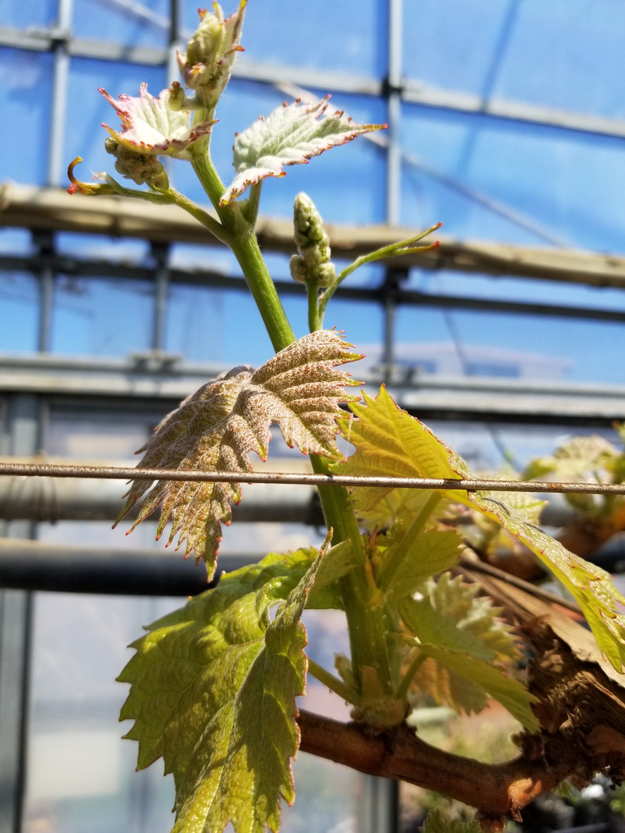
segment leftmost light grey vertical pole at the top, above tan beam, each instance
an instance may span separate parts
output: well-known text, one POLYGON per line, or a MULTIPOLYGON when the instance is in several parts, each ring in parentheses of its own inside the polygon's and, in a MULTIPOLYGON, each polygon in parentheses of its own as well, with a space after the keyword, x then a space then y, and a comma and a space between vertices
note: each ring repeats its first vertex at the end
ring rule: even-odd
POLYGON ((73 0, 58 0, 57 26, 54 37, 54 68, 52 71, 52 115, 50 144, 47 157, 47 184, 59 186, 64 175, 65 121, 67 115, 67 81, 69 52, 67 41, 72 31, 73 0))

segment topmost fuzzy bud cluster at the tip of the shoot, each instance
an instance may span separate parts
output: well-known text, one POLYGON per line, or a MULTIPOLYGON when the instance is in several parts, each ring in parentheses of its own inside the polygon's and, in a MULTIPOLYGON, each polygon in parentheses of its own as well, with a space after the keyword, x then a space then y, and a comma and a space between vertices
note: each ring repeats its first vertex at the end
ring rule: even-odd
POLYGON ((224 19, 222 7, 213 3, 214 12, 200 10, 200 25, 178 53, 178 66, 187 87, 196 90, 208 107, 214 107, 230 80, 239 46, 247 0, 240 0, 237 12, 224 19))

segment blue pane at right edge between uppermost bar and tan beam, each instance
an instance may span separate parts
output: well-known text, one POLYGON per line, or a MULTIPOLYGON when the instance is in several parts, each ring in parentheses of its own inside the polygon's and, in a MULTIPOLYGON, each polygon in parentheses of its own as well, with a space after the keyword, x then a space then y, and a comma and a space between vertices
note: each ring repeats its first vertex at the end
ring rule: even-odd
POLYGON ((452 237, 534 246, 551 240, 612 252, 625 247, 615 222, 625 176, 622 142, 405 107, 403 147, 426 167, 404 167, 403 221, 410 226, 443 220, 452 237), (453 183, 528 222, 488 210, 453 183))

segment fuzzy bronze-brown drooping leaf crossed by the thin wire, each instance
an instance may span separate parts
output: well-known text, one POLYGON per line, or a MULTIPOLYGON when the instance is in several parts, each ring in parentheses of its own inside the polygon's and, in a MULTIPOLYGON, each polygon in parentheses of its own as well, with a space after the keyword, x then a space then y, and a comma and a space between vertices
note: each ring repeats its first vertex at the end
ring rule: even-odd
MULTIPOLYGON (((208 382, 161 422, 143 446, 138 468, 244 474, 252 471, 251 451, 266 459, 273 422, 292 448, 340 458, 335 442, 338 403, 359 397, 343 390, 358 382, 334 368, 361 358, 348 352, 351 346, 338 332, 319 330, 285 347, 255 373, 235 367, 208 382)), ((117 522, 150 486, 149 481, 134 481, 117 522)), ((222 522, 228 524, 232 517, 230 501, 240 499, 240 483, 158 481, 143 500, 133 529, 160 506, 158 536, 173 521, 169 542, 176 535, 178 546, 186 540, 187 555, 194 551, 196 561, 204 558, 210 578, 222 522)))

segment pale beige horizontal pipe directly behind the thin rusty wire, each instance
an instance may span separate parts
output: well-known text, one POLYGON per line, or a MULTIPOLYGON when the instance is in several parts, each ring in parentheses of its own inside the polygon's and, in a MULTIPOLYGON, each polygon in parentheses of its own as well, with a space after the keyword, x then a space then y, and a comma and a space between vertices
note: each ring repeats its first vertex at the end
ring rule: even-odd
MULTIPOLYGON (((81 465, 82 461, 53 458, 54 463, 81 465)), ((0 457, 0 462, 32 462, 32 459, 0 457)), ((102 461, 102 464, 104 462, 102 461)), ((275 470, 309 471, 302 458, 272 461, 275 470)), ((122 511, 127 486, 118 480, 71 477, 0 476, 0 520, 15 521, 114 521, 122 511)), ((314 486, 293 486, 288 490, 270 483, 245 487, 245 500, 233 506, 233 521, 258 523, 305 523, 323 525, 323 514, 314 486)), ((128 515, 134 520, 138 506, 128 515)), ((154 515, 158 519, 158 511, 154 515)))

